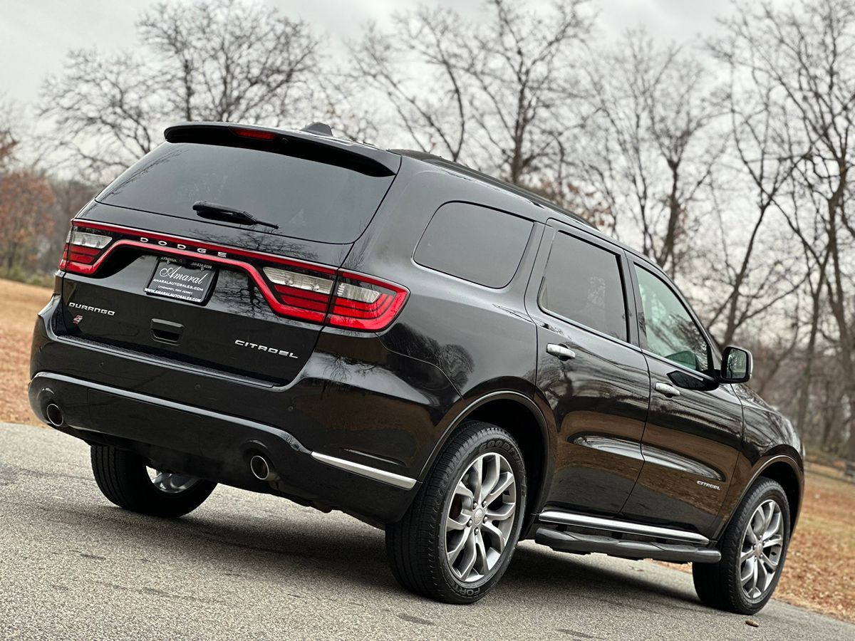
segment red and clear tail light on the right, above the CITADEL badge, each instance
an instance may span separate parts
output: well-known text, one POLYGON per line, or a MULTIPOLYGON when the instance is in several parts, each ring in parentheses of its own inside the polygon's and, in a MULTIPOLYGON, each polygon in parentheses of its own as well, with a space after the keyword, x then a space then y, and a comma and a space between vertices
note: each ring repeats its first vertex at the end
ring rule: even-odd
POLYGON ((407 297, 404 287, 357 273, 266 267, 264 274, 273 284, 280 313, 345 329, 384 329, 407 297))

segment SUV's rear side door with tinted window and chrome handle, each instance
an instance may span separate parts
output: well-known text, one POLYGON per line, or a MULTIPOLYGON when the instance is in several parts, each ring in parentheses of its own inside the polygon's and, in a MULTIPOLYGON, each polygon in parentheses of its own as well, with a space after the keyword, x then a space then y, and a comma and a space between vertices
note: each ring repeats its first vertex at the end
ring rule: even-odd
POLYGON ((614 515, 640 473, 650 378, 629 283, 620 248, 547 227, 526 308, 538 327, 537 386, 557 425, 549 508, 614 515))

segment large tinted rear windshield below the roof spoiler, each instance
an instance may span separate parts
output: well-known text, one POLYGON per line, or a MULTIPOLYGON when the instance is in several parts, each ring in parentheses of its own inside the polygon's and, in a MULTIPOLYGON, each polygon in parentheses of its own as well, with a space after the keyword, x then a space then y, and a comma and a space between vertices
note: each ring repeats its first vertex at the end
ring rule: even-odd
POLYGON ((164 143, 97 200, 194 221, 203 220, 193 210, 202 200, 279 226, 258 226, 259 231, 352 243, 369 225, 394 176, 358 163, 347 167, 340 157, 331 162, 245 147, 164 143))

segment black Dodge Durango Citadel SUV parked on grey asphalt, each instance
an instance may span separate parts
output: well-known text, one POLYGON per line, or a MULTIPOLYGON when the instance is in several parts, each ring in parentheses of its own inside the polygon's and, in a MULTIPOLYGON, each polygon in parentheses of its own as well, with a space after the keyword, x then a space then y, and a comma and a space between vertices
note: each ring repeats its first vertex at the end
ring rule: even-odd
POLYGON ((165 136, 72 221, 32 344, 32 409, 91 445, 110 501, 180 516, 225 483, 339 509, 449 603, 521 538, 768 601, 799 436, 656 265, 528 191, 321 126, 165 136))

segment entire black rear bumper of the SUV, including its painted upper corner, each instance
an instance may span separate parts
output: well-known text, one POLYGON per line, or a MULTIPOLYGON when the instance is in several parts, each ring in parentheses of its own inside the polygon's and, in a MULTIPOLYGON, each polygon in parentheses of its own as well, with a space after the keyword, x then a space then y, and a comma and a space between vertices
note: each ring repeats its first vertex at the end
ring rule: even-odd
POLYGON ((62 335, 59 300, 39 314, 30 404, 56 403, 62 432, 133 450, 165 468, 376 525, 399 520, 459 395, 428 363, 378 338, 321 332, 298 379, 257 385, 62 335), (345 356, 351 354, 351 356, 345 356), (266 454, 274 486, 249 461, 266 454))

